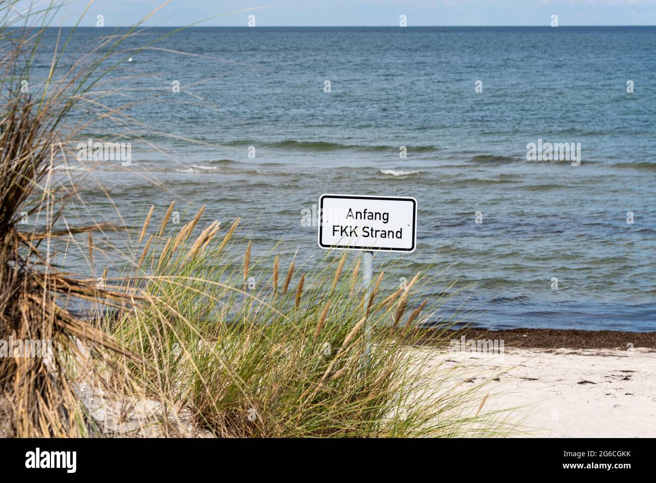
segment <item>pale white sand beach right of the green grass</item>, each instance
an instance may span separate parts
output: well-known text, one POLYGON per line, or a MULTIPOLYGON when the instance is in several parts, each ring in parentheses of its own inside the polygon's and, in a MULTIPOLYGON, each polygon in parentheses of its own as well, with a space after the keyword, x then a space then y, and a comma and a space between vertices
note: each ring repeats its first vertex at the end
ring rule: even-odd
MULTIPOLYGON (((503 356, 445 353, 435 362, 490 382, 485 410, 523 406, 536 437, 656 437, 656 350, 506 348, 503 356)), ((519 434, 518 434, 519 435, 519 434)))

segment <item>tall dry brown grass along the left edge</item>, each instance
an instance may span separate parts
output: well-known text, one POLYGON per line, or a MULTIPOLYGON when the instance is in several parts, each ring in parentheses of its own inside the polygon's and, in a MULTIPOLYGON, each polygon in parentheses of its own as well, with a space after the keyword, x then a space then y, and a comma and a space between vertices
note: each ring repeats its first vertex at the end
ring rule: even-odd
POLYGON ((81 368, 87 354, 104 349, 126 360, 141 358, 73 314, 67 305, 79 299, 125 307, 144 297, 99 289, 95 280, 73 278, 53 266, 53 240, 87 234, 92 261, 92 232, 109 226, 56 228, 64 205, 77 192, 73 184, 55 179, 53 167, 66 159, 66 146, 76 132, 64 127, 64 119, 91 89, 100 62, 123 39, 100 41, 55 79, 55 67, 66 45, 66 39, 58 38, 42 92, 32 83, 34 94, 23 93, 20 79, 29 78, 30 52, 38 47, 44 31, 41 25, 47 24, 57 5, 17 16, 15 3, 0 5, 0 335, 52 341, 54 354, 51 358, 0 358, 0 399, 5 401, 14 436, 86 436, 87 416, 67 377, 70 360, 77 360, 81 368), (23 27, 10 30, 16 18, 24 22, 23 27), (21 223, 25 215, 31 221, 27 226, 21 223))

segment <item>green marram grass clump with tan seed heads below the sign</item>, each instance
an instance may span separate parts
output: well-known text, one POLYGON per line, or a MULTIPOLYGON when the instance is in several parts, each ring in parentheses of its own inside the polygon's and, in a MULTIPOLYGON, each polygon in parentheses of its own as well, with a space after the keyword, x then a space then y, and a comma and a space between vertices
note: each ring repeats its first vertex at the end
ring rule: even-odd
POLYGON ((482 411, 480 387, 451 388, 457 369, 414 347, 436 310, 412 300, 420 274, 382 293, 381 273, 367 296, 355 253, 310 269, 277 255, 268 265, 251 242, 236 255, 239 220, 224 234, 201 222, 192 221, 197 236, 189 226, 142 236, 138 272, 108 281, 148 299, 104 324, 144 360, 125 366, 142 397, 187 408, 198 427, 225 437, 497 436, 512 427, 482 411))

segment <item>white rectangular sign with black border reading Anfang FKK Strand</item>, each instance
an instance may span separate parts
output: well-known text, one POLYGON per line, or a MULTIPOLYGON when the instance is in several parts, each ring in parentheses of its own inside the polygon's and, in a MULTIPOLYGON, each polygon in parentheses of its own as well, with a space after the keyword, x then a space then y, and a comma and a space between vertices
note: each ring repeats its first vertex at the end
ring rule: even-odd
POLYGON ((415 251, 415 198, 325 194, 319 213, 321 248, 415 251))

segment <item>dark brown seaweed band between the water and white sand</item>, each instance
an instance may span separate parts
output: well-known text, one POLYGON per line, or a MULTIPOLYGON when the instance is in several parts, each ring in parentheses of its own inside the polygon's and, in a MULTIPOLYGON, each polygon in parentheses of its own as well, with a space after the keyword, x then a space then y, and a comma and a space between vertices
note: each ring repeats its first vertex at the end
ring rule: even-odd
POLYGON ((630 332, 598 330, 587 331, 579 329, 484 329, 480 327, 464 327, 462 329, 426 328, 422 335, 422 343, 435 343, 434 334, 441 333, 440 341, 445 338, 460 339, 493 339, 504 341, 505 347, 541 348, 541 349, 623 349, 648 348, 656 350, 656 332, 630 332))

